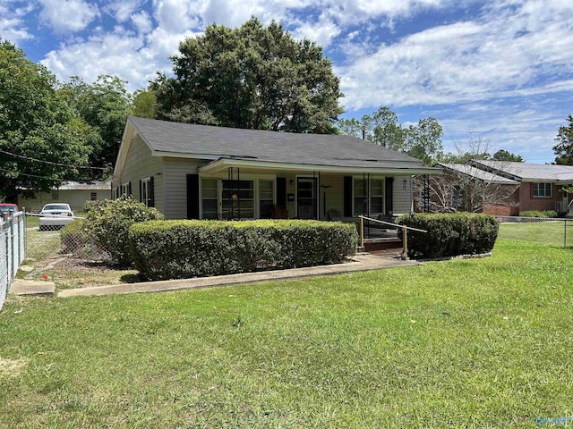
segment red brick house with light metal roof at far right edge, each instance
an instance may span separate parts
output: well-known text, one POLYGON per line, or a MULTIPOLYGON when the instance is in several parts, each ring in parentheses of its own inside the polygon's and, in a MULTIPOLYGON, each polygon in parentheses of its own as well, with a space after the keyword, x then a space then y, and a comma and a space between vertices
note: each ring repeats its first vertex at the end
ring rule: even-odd
POLYGON ((510 163, 471 160, 476 168, 519 183, 517 213, 555 210, 573 214, 571 197, 562 189, 573 185, 573 165, 510 163))

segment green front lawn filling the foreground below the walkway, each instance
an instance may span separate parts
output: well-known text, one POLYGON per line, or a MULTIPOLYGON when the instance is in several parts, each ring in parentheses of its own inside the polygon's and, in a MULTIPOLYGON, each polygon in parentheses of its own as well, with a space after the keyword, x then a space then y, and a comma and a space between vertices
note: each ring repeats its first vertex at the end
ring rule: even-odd
POLYGON ((0 427, 531 428, 573 416, 571 252, 500 241, 489 258, 312 280, 9 298, 0 427))

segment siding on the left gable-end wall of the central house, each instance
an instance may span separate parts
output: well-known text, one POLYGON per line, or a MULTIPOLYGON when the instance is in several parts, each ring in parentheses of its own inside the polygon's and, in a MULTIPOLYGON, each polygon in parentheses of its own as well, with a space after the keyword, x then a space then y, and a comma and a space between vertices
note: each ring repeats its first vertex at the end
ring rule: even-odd
POLYGON ((121 186, 129 181, 132 182, 132 197, 141 201, 141 179, 153 177, 155 206, 161 213, 165 213, 165 192, 163 191, 163 167, 161 158, 151 156, 150 147, 139 135, 133 138, 125 157, 124 168, 120 177, 114 181, 114 186, 121 186))

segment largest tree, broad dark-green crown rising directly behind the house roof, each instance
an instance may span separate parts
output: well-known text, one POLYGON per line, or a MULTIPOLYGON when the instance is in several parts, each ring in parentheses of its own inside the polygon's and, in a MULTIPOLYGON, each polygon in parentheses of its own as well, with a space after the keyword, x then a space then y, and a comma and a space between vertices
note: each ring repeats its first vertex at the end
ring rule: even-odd
POLYGON ((175 77, 151 83, 158 117, 256 130, 333 133, 339 80, 321 46, 297 41, 275 21, 238 29, 210 25, 175 55, 175 77))

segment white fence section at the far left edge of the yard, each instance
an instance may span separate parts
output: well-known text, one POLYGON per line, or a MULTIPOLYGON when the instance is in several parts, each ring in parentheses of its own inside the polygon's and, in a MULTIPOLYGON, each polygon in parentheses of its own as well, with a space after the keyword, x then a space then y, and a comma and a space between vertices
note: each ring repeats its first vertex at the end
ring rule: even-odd
POLYGON ((19 212, 0 216, 0 310, 25 257, 24 214, 19 212))

